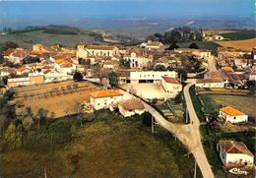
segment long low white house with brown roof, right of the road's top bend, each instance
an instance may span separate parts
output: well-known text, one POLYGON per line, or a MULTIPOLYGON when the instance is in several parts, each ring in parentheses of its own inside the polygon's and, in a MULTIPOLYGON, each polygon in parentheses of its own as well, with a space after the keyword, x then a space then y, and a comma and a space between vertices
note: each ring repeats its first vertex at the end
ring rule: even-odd
POLYGON ((196 88, 224 88, 224 81, 214 80, 214 79, 197 79, 196 88))

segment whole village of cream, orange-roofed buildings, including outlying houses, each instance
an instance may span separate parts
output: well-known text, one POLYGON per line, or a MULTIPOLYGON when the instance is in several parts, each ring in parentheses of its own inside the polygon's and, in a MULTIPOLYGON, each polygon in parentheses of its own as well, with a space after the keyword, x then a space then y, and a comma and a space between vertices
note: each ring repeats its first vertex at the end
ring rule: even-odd
MULTIPOLYGON (((208 33, 204 39, 224 38, 208 33)), ((2 53, 1 92, 87 80, 102 85, 103 89, 90 93, 85 110, 118 108, 123 117, 144 113, 144 101, 174 99, 186 83, 194 83, 196 89, 245 89, 255 94, 255 48, 243 51, 219 47, 217 54, 193 47, 167 48, 160 41, 151 40, 132 47, 80 42, 77 48, 43 44, 34 44, 31 49, 8 48, 2 53), (126 98, 119 88, 138 97, 126 98)), ((232 124, 248 122, 246 113, 231 106, 221 108, 219 117, 232 124)), ((220 141, 217 149, 224 165, 237 162, 254 165, 254 155, 243 143, 220 141)))

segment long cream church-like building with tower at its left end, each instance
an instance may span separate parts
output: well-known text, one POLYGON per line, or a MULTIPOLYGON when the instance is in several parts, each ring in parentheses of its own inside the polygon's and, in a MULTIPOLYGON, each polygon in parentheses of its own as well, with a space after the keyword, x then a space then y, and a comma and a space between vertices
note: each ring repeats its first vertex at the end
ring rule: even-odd
POLYGON ((119 56, 116 46, 110 45, 87 45, 79 44, 76 53, 77 58, 87 59, 88 57, 115 57, 119 56))

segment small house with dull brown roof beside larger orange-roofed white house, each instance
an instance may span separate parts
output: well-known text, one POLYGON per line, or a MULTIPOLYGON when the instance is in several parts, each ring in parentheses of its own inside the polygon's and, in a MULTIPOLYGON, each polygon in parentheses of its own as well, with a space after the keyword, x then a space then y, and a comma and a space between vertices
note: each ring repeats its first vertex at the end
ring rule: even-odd
POLYGON ((133 98, 119 101, 118 110, 124 117, 130 117, 135 114, 141 115, 145 112, 145 107, 141 99, 133 98))

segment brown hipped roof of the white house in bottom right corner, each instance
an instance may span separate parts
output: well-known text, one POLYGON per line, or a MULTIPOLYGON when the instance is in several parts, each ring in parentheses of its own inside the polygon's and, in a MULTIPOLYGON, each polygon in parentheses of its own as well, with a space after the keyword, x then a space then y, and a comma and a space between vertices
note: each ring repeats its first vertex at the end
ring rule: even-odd
POLYGON ((226 153, 243 153, 254 157, 252 152, 245 146, 243 142, 220 141, 220 146, 226 153))

